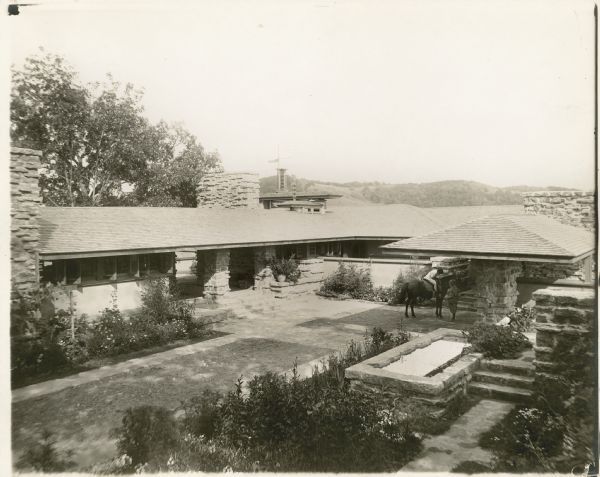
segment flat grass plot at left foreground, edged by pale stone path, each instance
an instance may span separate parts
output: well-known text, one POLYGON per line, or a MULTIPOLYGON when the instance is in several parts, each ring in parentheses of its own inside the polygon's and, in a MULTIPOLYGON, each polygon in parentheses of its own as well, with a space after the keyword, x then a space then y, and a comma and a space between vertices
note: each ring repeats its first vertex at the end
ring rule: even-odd
POLYGON ((234 343, 137 368, 93 383, 15 403, 12 439, 15 461, 43 429, 55 433, 57 447, 71 449, 79 468, 112 458, 115 446, 110 431, 121 412, 142 404, 176 408, 181 401, 210 388, 232 389, 240 376, 285 371, 294 360, 310 361, 331 351, 263 338, 234 343))

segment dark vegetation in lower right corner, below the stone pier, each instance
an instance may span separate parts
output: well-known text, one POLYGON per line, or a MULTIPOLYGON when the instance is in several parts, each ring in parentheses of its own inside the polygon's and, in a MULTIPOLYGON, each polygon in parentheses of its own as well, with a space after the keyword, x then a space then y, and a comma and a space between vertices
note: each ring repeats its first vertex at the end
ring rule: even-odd
POLYGON ((594 462, 593 339, 561 341, 552 374, 536 376, 533 404, 519 406, 481 438, 495 472, 584 473, 594 462))

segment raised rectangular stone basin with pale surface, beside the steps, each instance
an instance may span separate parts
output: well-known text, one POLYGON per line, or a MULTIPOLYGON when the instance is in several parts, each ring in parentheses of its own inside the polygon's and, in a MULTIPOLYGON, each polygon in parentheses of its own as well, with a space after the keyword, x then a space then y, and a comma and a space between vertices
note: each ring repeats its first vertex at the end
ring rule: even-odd
POLYGON ((466 392, 481 359, 478 353, 460 356, 465 346, 460 330, 439 328, 350 366, 345 376, 354 389, 418 398, 445 407, 466 392), (435 370, 439 372, 432 373, 435 370))

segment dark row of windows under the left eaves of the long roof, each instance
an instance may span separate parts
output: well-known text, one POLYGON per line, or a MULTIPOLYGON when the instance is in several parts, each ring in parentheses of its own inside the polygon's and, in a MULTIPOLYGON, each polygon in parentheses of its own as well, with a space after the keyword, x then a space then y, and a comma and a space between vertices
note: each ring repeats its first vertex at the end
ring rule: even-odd
POLYGON ((92 285, 172 274, 174 263, 174 253, 53 260, 42 263, 41 275, 44 282, 92 285))

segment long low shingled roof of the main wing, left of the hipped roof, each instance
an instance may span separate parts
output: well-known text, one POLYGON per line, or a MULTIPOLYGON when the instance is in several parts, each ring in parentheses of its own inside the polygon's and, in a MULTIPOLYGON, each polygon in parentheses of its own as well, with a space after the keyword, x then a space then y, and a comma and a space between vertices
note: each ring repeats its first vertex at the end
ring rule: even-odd
MULTIPOLYGON (((461 213, 448 208, 456 217, 461 213)), ((470 209, 463 207, 462 209, 470 209)), ((480 208, 493 214, 496 208, 480 208)), ((465 211, 464 214, 472 214, 465 211)), ((91 256, 354 238, 398 240, 444 227, 410 205, 343 207, 326 214, 288 210, 163 207, 42 207, 40 254, 91 256)))

